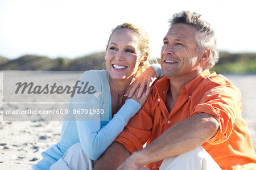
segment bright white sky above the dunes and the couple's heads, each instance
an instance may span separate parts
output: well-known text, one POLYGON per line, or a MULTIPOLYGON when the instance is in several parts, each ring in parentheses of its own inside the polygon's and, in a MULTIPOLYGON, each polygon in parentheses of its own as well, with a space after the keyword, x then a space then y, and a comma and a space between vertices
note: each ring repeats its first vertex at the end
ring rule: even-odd
POLYGON ((146 29, 150 57, 160 57, 168 19, 184 10, 212 25, 218 49, 256 53, 255 6, 255 0, 0 0, 0 56, 83 57, 104 51, 112 28, 130 22, 146 29))

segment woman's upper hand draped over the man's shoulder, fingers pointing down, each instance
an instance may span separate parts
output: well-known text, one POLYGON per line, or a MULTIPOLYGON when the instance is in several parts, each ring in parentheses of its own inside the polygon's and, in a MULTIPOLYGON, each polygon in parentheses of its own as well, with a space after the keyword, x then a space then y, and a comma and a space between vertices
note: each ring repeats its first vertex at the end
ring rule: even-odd
POLYGON ((128 87, 128 90, 126 91, 125 96, 131 97, 134 95, 134 92, 138 90, 137 98, 140 98, 144 89, 146 89, 145 95, 148 96, 153 89, 152 84, 157 78, 158 75, 156 74, 155 69, 153 67, 148 67, 134 80, 133 83, 131 83, 131 85, 128 87))

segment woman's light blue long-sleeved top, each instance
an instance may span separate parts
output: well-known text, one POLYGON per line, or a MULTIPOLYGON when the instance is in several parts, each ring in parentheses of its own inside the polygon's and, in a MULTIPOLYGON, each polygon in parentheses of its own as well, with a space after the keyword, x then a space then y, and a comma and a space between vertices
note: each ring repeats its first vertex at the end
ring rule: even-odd
MULTIPOLYGON (((121 133, 130 118, 141 108, 137 101, 127 99, 112 118, 110 86, 106 71, 85 71, 79 80, 89 82, 87 87, 93 86, 92 91, 96 92, 76 94, 72 97, 68 104, 71 114, 65 118, 68 121, 63 121, 59 142, 42 152, 43 159, 32 168, 49 169, 52 164, 63 157, 69 147, 77 142, 80 142, 82 150, 90 159, 98 159, 121 133), (73 111, 78 113, 79 109, 80 112, 83 109, 84 114, 72 114, 73 111), (104 114, 89 114, 93 113, 93 109, 96 109, 96 113, 104 112, 104 114)), ((82 86, 81 82, 80 86, 82 86)))

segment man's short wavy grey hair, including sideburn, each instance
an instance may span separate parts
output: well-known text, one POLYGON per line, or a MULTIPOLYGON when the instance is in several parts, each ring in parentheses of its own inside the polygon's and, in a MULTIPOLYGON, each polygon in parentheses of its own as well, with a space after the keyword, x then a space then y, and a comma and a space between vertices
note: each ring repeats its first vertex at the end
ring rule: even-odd
POLYGON ((177 23, 189 24, 196 27, 197 34, 195 41, 199 45, 196 50, 210 50, 210 57, 206 69, 211 69, 218 62, 219 52, 216 48, 216 38, 213 28, 209 23, 201 19, 200 16, 201 15, 190 11, 176 13, 172 16, 172 19, 169 20, 170 27, 177 23))

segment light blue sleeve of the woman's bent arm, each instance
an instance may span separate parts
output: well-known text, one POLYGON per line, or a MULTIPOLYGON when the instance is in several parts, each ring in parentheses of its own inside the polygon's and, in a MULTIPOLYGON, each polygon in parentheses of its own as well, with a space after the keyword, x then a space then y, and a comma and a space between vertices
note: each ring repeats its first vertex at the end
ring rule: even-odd
MULTIPOLYGON (((82 98, 79 100, 88 101, 89 104, 86 105, 87 109, 101 109, 101 105, 105 104, 105 101, 102 101, 104 97, 102 97, 103 94, 101 91, 101 86, 106 86, 104 84, 108 82, 101 82, 100 77, 92 73, 85 75, 84 79, 90 80, 90 86, 94 86, 94 89, 97 92, 93 95, 82 95, 82 98)), ((106 103, 110 104, 108 102, 106 103)), ((73 109, 82 109, 84 107, 85 104, 78 104, 76 106, 73 104, 73 109)), ((102 127, 100 114, 91 114, 88 117, 88 120, 80 120, 80 117, 76 117, 76 119, 78 119, 76 124, 80 144, 85 154, 88 155, 88 157, 92 160, 100 158, 106 148, 111 145, 114 139, 127 125, 127 122, 130 120, 130 118, 133 117, 140 108, 141 105, 137 101, 133 99, 127 99, 125 104, 114 115, 112 120, 110 120, 108 124, 102 127)), ((109 117, 109 114, 106 117, 109 117)))

